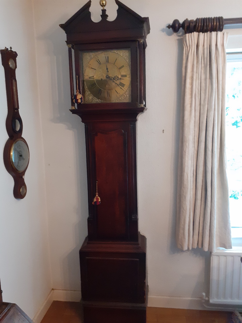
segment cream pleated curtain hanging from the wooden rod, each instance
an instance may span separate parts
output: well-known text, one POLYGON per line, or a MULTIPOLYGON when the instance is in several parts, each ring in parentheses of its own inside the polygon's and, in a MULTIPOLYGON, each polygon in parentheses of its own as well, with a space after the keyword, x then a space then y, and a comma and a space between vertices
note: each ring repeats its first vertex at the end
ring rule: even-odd
POLYGON ((225 151, 227 33, 183 37, 177 246, 232 248, 225 151))

